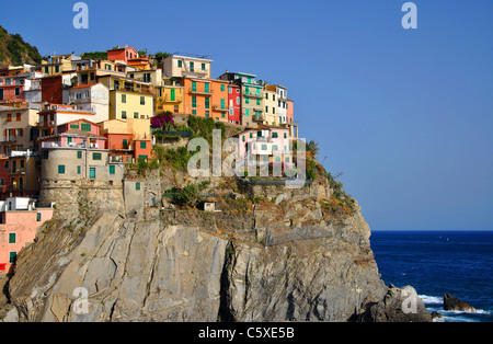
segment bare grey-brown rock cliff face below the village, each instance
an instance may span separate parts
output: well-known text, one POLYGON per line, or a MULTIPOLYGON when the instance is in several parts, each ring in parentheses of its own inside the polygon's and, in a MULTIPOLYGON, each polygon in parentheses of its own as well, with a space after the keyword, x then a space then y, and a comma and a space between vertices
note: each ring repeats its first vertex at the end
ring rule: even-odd
POLYGON ((388 288, 360 213, 333 211, 320 192, 215 214, 54 220, 21 252, 7 295, 20 321, 358 320, 388 288))

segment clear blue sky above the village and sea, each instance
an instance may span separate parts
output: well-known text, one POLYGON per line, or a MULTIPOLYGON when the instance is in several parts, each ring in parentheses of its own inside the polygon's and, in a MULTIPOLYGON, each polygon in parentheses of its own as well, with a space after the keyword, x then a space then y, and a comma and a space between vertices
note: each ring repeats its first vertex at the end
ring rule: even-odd
POLYGON ((42 55, 128 44, 286 85, 371 229, 493 230, 492 1, 414 1, 404 30, 403 0, 89 0, 81 31, 76 2, 4 1, 0 25, 42 55))

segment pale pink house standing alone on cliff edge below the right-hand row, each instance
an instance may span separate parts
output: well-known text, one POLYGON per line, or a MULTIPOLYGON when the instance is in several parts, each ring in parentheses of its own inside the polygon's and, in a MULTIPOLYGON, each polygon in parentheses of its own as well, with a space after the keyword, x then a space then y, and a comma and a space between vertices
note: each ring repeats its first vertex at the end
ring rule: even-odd
POLYGON ((284 162, 293 163, 289 147, 289 128, 259 125, 236 135, 239 139, 238 162, 284 162))

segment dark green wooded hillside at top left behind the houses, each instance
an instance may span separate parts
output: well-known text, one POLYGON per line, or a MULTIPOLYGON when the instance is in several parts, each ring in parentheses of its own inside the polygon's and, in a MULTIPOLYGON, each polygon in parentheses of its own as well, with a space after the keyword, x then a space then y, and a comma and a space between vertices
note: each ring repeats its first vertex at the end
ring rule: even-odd
POLYGON ((20 34, 10 35, 0 26, 0 64, 22 66, 41 62, 42 56, 35 46, 24 42, 20 34))

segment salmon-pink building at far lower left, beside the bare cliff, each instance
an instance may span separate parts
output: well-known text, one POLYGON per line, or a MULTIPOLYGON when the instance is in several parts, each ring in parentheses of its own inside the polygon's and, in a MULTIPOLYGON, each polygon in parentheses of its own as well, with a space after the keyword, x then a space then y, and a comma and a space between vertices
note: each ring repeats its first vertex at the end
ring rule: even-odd
POLYGON ((53 208, 35 208, 34 199, 0 200, 0 274, 12 273, 19 252, 34 242, 36 231, 53 217, 53 208))

